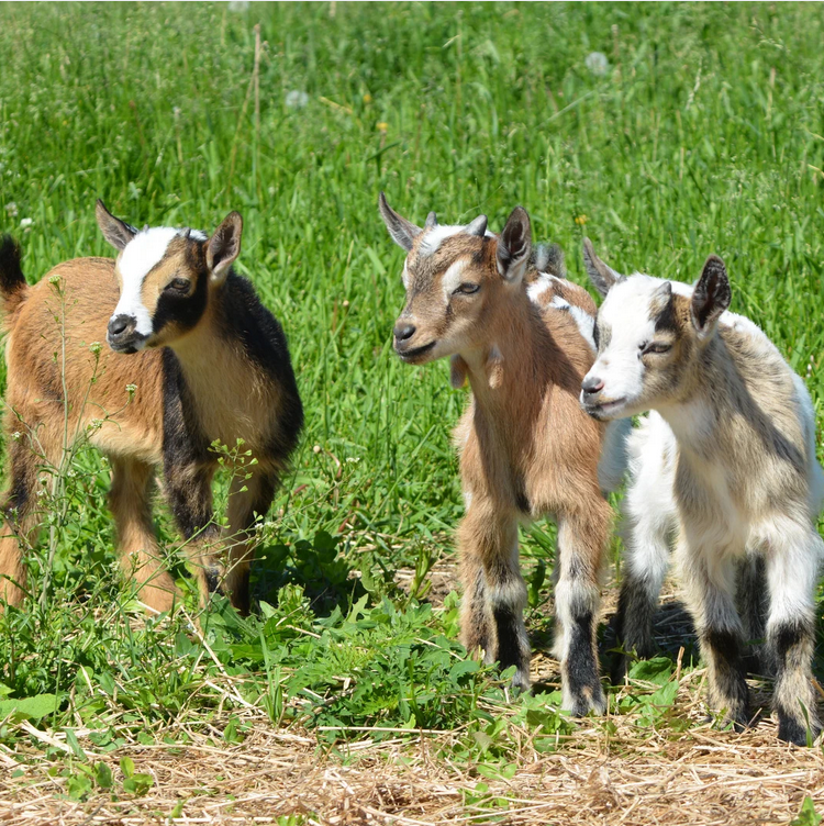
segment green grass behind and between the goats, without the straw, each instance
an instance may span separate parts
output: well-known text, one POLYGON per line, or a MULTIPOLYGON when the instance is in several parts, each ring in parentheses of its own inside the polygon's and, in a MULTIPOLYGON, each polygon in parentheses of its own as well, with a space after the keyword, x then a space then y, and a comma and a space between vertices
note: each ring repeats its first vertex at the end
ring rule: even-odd
MULTIPOLYGON (((98 197, 137 225, 210 230, 241 211, 240 269, 286 327, 307 428, 282 516, 265 528, 261 613, 241 620, 219 602, 208 647, 185 620, 134 622, 108 475, 80 455, 53 573, 44 546, 31 559, 47 599, 0 620, 0 691, 54 694, 27 715, 93 728, 99 749, 170 737, 172 721, 224 725, 244 703, 330 740, 347 726, 469 721, 467 759, 498 748, 503 683, 464 662, 454 600, 433 612, 392 584, 398 567, 423 574, 453 554, 463 507, 449 432, 465 393, 447 365, 392 356, 402 256, 378 191, 413 221, 483 212, 493 230, 522 203, 580 283, 584 233, 627 271, 692 280, 722 255, 733 309, 808 377, 821 415, 822 42, 813 4, 341 3, 334 16, 327 4, 3 4, 0 224, 22 241, 30 280, 110 254, 98 197), (593 51, 609 57, 604 76, 586 67, 593 51), (304 107, 287 104, 292 91, 304 107)), ((527 570, 552 565, 552 536, 524 536, 527 570)), ((532 627, 546 627, 541 612, 532 627)), ((678 718, 641 713, 645 696, 668 704, 655 683, 638 687, 620 711, 639 725, 678 718)), ((554 701, 508 713, 566 730, 554 701)), ((1 743, 37 745, 22 716, 1 743)))

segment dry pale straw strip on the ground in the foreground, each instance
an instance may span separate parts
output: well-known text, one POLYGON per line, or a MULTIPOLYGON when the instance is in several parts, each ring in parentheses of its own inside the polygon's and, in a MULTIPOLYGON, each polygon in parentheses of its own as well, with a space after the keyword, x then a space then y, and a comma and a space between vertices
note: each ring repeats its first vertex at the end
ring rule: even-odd
MULTIPOLYGON (((399 579, 410 576, 401 571, 399 579)), ((433 571, 443 588, 453 577, 453 566, 433 571)), ((614 589, 608 591, 612 593, 614 589)), ((611 602, 608 595, 605 620, 611 602)), ((689 633, 671 584, 656 632, 665 647, 689 633)), ((533 677, 544 688, 557 685, 556 669, 549 657, 535 656, 533 677)), ((547 755, 532 748, 535 728, 511 724, 519 758, 509 779, 480 777, 449 759, 460 728, 396 730, 389 732, 390 739, 376 741, 377 732, 365 727, 348 733, 348 745, 331 748, 316 733, 275 729, 259 708, 247 707, 242 716, 253 724, 252 733, 231 747, 222 741, 225 718, 213 719, 210 729, 186 732, 190 745, 185 748, 132 741, 115 756, 96 751, 83 730, 76 729, 90 762, 107 762, 116 777, 127 756, 135 771, 154 780, 142 796, 115 800, 98 792, 77 802, 68 799, 66 778, 54 777, 54 762, 38 759, 47 747, 70 754, 65 735, 30 726, 34 748, 19 748, 16 759, 0 750, 0 823, 766 826, 792 823, 805 797, 824 808, 822 750, 778 744, 769 713, 744 734, 717 730, 702 702, 705 673, 676 671, 672 713, 691 726, 680 734, 642 727, 633 715, 609 715, 581 721, 574 734, 559 738, 565 740, 561 748, 547 755)), ((754 707, 767 708, 767 687, 750 685, 754 707)), ((233 693, 231 681, 222 688, 233 693)), ((612 700, 620 703, 621 696, 612 700)), ((123 730, 129 736, 130 728, 123 730)))

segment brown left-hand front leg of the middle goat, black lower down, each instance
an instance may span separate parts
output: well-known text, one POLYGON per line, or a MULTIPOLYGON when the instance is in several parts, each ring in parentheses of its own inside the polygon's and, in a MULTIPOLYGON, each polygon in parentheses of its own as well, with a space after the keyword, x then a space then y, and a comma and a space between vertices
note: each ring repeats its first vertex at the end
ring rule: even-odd
POLYGON ((530 688, 530 640, 524 626, 526 584, 517 555, 517 517, 474 502, 458 528, 464 600, 461 641, 486 662, 515 666, 512 684, 530 688))

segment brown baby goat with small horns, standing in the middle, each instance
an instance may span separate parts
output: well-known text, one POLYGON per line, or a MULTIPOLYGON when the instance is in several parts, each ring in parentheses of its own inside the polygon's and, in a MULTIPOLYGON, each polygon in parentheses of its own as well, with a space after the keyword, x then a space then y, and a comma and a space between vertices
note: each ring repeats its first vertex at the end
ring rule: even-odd
POLYGON ((594 355, 587 337, 594 303, 569 281, 530 271, 532 231, 520 206, 500 236, 487 232, 485 215, 442 226, 430 213, 421 228, 382 193, 380 213, 408 253, 396 351, 411 365, 452 356, 453 386, 468 377, 472 389, 455 431, 466 501, 458 528, 463 643, 501 668, 515 666, 514 684, 530 685, 517 526, 554 516, 564 707, 602 713, 595 626, 611 523, 599 484, 605 427, 578 404, 594 355))

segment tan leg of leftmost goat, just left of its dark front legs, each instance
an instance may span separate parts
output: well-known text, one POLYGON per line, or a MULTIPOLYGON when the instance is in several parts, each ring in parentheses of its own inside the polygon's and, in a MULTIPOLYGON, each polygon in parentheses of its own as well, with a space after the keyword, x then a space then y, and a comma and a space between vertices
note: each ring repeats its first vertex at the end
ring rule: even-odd
POLYGON ((138 584, 141 602, 158 613, 171 611, 179 596, 152 522, 149 490, 153 467, 137 459, 112 456, 109 507, 118 528, 118 552, 123 571, 138 584))

